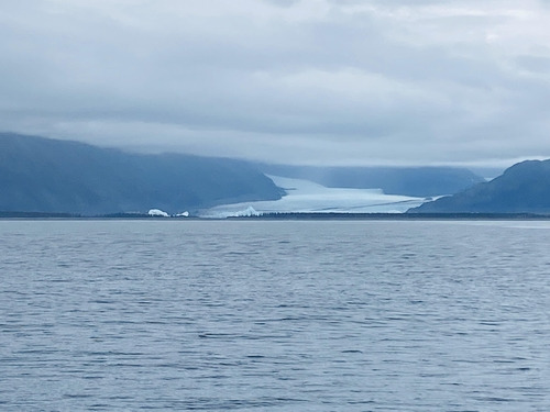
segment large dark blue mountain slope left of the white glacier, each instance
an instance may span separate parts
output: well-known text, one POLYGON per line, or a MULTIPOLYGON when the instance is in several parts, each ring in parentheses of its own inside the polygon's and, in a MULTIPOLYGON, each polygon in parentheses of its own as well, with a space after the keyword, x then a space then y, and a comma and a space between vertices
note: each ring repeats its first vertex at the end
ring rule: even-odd
POLYGON ((188 155, 138 155, 0 133, 0 211, 170 213, 279 199, 252 165, 188 155))

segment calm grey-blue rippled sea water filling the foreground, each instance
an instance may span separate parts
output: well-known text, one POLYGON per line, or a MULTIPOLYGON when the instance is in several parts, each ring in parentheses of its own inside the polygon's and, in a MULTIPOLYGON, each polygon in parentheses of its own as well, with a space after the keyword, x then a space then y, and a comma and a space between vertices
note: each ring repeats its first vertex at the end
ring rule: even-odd
POLYGON ((0 221, 1 411, 549 411, 549 222, 0 221))

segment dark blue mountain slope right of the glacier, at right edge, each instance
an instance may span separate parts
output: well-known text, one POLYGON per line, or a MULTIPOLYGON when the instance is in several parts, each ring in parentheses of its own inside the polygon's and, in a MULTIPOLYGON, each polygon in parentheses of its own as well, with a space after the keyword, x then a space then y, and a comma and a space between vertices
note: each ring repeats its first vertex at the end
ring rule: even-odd
POLYGON ((550 213, 550 160, 519 163, 492 181, 409 212, 550 213))

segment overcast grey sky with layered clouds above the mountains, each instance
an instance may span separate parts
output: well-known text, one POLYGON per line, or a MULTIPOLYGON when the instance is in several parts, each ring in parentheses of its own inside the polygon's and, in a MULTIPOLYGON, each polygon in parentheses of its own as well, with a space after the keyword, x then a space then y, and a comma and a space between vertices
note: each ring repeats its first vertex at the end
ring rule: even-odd
POLYGON ((19 0, 0 130, 323 165, 550 157, 550 1, 19 0))

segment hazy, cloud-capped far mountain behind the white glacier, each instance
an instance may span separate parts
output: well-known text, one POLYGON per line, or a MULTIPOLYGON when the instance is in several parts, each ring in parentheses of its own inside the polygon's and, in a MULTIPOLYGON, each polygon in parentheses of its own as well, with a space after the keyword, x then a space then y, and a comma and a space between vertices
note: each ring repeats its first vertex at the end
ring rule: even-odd
POLYGON ((301 167, 260 165, 266 174, 307 179, 329 188, 382 189, 386 194, 432 197, 453 194, 482 177, 452 167, 301 167))

